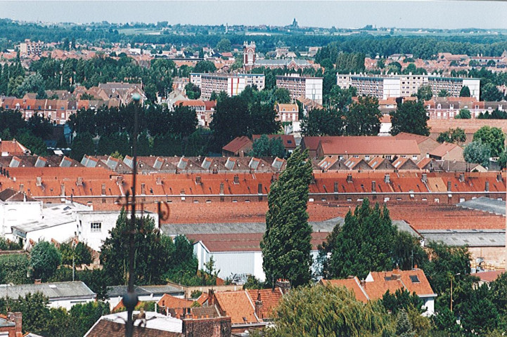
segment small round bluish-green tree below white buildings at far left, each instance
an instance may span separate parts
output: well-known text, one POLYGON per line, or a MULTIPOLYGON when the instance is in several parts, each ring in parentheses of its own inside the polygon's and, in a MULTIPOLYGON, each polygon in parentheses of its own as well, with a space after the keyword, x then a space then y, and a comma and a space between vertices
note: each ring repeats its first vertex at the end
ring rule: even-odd
POLYGON ((53 244, 43 241, 35 244, 30 253, 32 277, 46 281, 62 263, 62 254, 53 244))

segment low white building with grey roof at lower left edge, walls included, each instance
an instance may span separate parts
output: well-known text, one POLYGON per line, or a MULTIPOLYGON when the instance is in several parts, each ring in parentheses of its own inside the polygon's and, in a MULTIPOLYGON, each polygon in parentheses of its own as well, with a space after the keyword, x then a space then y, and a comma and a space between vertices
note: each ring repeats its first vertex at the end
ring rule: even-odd
POLYGON ((94 302, 96 293, 91 291, 82 281, 53 282, 42 284, 1 284, 0 298, 18 299, 28 293, 42 293, 49 298, 50 308, 65 308, 70 310, 76 304, 94 302))

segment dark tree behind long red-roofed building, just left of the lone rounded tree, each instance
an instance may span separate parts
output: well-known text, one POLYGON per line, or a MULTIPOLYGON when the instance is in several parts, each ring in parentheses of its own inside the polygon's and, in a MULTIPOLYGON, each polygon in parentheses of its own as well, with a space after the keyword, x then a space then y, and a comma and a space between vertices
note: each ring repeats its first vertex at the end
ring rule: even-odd
POLYGON ((377 136, 380 131, 378 99, 372 96, 359 97, 345 112, 347 136, 377 136))

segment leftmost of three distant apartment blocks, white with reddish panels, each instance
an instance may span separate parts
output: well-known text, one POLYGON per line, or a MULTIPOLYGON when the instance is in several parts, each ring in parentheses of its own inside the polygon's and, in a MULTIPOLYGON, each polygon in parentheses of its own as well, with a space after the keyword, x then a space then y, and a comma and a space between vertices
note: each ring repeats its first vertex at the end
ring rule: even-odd
POLYGON ((209 100, 213 92, 225 91, 229 96, 239 95, 247 86, 264 89, 264 74, 190 74, 191 83, 200 88, 200 97, 209 100))

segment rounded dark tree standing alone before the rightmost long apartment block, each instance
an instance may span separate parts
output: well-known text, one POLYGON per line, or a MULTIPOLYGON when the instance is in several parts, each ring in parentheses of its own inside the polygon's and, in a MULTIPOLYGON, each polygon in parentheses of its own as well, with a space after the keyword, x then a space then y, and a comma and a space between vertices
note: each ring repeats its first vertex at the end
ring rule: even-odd
POLYGON ((400 132, 415 133, 416 135, 429 136, 426 110, 422 102, 406 101, 398 105, 397 110, 391 113, 391 134, 397 135, 400 132))

